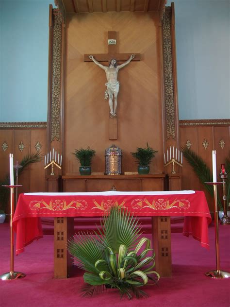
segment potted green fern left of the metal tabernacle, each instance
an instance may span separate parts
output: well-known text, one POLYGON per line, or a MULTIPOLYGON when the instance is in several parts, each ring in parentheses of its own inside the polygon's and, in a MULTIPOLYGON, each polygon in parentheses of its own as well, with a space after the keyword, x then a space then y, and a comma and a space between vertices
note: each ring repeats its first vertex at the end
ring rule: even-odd
POLYGON ((75 149, 73 154, 81 164, 79 167, 79 172, 81 175, 91 175, 91 163, 95 153, 96 151, 94 149, 90 149, 89 147, 86 149, 75 149))

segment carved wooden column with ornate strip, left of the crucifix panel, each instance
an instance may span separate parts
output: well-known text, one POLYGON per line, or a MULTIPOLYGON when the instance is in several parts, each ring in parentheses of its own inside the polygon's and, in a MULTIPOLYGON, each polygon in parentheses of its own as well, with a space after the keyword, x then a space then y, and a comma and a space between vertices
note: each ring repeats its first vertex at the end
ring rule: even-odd
MULTIPOLYGON (((49 6, 47 150, 49 152, 52 148, 54 148, 57 153, 62 154, 66 12, 61 1, 58 1, 58 3, 55 4, 58 5, 58 9, 52 9, 52 5, 49 6)), ((55 168, 54 173, 55 175, 61 175, 62 171, 55 168)))

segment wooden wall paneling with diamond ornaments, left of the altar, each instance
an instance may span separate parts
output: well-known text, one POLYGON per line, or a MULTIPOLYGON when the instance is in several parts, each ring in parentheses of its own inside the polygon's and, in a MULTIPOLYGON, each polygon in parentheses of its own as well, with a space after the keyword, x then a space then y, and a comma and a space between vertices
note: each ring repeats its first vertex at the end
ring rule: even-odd
MULTIPOLYGON (((9 173, 9 153, 14 154, 14 164, 30 153, 46 153, 46 122, 0 122, 0 179, 9 173)), ((26 168, 18 179, 18 194, 45 191, 44 161, 26 168)))

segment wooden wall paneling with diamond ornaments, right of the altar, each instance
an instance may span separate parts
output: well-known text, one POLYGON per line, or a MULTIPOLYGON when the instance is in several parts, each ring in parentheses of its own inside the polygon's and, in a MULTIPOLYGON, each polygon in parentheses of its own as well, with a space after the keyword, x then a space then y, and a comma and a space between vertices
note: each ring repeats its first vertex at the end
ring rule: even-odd
MULTIPOLYGON (((181 146, 190 146, 212 170, 212 151, 216 150, 217 180, 220 181, 220 164, 230 152, 230 119, 180 120, 181 146)), ((204 190, 187 161, 183 160, 182 189, 204 190)), ((219 187, 220 194, 222 189, 219 187)), ((214 211, 213 198, 205 191, 211 211, 214 211)))

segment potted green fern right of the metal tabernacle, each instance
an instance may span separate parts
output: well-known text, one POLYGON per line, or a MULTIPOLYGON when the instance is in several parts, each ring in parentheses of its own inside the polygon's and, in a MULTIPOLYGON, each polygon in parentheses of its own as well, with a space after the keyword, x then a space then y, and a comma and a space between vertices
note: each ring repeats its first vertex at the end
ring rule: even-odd
POLYGON ((134 153, 131 153, 131 155, 136 159, 136 162, 138 164, 138 174, 148 174, 149 173, 149 164, 153 157, 155 157, 155 153, 157 153, 156 150, 148 146, 141 148, 137 147, 136 151, 134 153))

